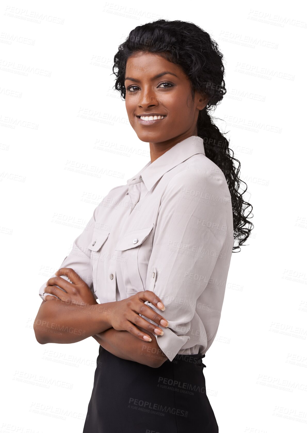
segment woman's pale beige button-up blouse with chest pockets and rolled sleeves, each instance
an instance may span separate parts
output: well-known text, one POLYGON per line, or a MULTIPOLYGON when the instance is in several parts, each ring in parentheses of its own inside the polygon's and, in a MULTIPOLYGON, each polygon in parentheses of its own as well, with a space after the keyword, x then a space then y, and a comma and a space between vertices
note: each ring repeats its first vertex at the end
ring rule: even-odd
POLYGON ((213 343, 233 242, 225 176, 191 136, 111 189, 58 268, 73 268, 101 304, 154 291, 165 311, 145 303, 169 322, 155 337, 172 360, 213 343))

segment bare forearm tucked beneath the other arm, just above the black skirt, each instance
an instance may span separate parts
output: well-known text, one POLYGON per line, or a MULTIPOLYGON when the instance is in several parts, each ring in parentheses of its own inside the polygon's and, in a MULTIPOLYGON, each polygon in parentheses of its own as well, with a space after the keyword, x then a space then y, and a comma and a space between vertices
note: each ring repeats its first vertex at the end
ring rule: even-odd
MULTIPOLYGON (((137 327, 148 333, 145 329, 137 327)), ((154 368, 162 365, 167 359, 166 355, 159 348, 153 334, 152 341, 147 342, 140 340, 128 331, 117 331, 109 328, 106 331, 93 335, 93 337, 100 346, 118 358, 139 362, 139 364, 149 365, 154 368)))

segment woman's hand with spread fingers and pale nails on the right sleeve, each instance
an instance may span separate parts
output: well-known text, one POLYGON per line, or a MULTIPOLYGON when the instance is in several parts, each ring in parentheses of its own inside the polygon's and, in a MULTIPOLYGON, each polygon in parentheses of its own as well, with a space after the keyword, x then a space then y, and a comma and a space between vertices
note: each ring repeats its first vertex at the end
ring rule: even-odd
POLYGON ((135 295, 128 297, 127 299, 112 303, 112 314, 110 318, 111 326, 117 331, 128 331, 132 335, 145 341, 152 341, 152 338, 149 335, 143 333, 134 325, 140 326, 141 328, 144 328, 153 334, 163 335, 161 328, 153 325, 139 315, 142 314, 142 316, 147 317, 161 326, 168 326, 168 321, 165 320, 164 317, 160 316, 160 314, 152 310, 152 308, 148 307, 148 305, 145 305, 145 301, 150 301, 153 305, 159 308, 159 310, 165 310, 161 299, 158 298, 152 291, 140 291, 135 295))

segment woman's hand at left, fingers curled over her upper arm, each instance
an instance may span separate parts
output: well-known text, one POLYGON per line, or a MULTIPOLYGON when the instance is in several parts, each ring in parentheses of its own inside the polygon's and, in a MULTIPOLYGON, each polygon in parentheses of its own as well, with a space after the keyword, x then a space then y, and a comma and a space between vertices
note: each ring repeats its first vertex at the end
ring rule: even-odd
MULTIPOLYGON (((66 304, 97 304, 93 292, 73 269, 61 268, 55 272, 55 275, 57 276, 48 279, 44 293, 53 294, 61 301, 66 302, 66 304), (66 275, 72 282, 66 281, 64 278, 61 278, 60 275, 66 275), (64 289, 65 292, 56 286, 64 289)), ((56 298, 54 296, 45 295, 44 299, 45 301, 53 301, 56 298)))

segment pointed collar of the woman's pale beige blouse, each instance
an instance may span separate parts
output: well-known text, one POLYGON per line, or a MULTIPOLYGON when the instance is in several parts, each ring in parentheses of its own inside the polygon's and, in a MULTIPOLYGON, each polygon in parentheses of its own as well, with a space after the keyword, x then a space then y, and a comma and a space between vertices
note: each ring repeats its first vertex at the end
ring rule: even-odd
POLYGON ((142 180, 150 191, 163 174, 197 153, 205 155, 204 140, 199 136, 188 137, 168 149, 154 162, 149 161, 137 174, 128 179, 127 184, 136 184, 142 180))

